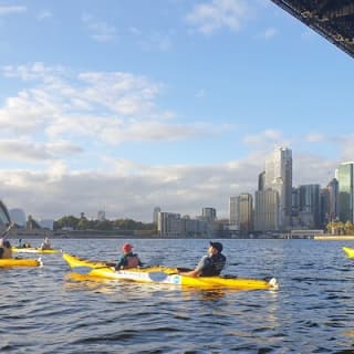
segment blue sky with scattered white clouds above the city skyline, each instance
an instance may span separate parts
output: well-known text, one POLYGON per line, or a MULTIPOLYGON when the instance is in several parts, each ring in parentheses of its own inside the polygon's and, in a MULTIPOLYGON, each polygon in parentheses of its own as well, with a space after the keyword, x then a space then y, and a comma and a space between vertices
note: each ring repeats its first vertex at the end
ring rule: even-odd
POLYGON ((0 198, 35 219, 196 217, 353 160, 353 60, 270 0, 0 0, 0 198))

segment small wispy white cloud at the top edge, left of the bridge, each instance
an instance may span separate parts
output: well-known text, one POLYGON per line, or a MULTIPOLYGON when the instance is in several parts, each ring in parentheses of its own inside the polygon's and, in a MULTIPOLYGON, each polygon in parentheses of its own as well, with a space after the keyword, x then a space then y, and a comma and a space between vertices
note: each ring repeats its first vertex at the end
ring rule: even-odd
POLYGON ((194 7, 186 20, 204 34, 212 34, 217 30, 228 28, 239 31, 252 17, 252 10, 244 0, 212 0, 194 7))

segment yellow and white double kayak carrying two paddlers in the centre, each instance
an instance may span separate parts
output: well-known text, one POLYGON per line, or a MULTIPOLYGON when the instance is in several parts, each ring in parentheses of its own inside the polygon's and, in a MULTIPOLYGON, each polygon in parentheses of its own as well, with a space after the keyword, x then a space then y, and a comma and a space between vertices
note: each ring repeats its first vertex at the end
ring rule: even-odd
POLYGON ((176 284, 183 287, 200 289, 239 289, 239 290, 260 290, 278 289, 275 278, 270 281, 260 279, 244 279, 237 277, 186 277, 177 274, 177 268, 166 268, 162 266, 115 270, 110 263, 102 261, 90 261, 79 257, 63 253, 63 259, 75 272, 82 270, 86 275, 111 279, 128 280, 140 283, 176 284))

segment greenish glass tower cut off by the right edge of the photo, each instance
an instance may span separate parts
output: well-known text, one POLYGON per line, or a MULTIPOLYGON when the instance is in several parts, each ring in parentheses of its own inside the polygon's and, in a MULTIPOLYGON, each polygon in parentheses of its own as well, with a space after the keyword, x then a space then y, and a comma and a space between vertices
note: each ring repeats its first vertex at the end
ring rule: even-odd
POLYGON ((354 221, 354 162, 343 163, 336 171, 339 180, 339 217, 343 222, 354 221))

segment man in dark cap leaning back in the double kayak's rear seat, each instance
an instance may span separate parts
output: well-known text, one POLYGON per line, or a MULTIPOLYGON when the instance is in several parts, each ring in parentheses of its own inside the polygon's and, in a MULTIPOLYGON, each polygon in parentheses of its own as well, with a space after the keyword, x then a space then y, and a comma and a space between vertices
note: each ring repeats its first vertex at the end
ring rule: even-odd
POLYGON ((222 252, 222 243, 210 242, 208 254, 204 256, 195 270, 178 271, 178 274, 186 277, 215 277, 220 275, 226 263, 222 252))

